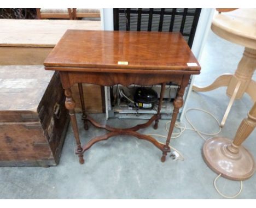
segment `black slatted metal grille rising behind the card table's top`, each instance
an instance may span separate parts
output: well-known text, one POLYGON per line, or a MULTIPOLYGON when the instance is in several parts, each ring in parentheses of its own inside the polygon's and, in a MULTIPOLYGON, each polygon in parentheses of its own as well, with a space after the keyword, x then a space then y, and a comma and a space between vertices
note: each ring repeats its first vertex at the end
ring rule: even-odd
POLYGON ((201 9, 114 9, 114 30, 181 32, 192 47, 201 9))

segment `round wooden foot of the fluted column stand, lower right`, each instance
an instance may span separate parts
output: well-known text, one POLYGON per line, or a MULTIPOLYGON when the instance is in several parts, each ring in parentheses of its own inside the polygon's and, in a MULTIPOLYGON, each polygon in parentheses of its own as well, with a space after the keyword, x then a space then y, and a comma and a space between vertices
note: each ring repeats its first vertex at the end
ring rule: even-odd
POLYGON ((202 148, 203 160, 217 174, 231 180, 246 180, 255 170, 252 154, 242 145, 236 153, 227 148, 232 140, 214 137, 206 140, 202 148))

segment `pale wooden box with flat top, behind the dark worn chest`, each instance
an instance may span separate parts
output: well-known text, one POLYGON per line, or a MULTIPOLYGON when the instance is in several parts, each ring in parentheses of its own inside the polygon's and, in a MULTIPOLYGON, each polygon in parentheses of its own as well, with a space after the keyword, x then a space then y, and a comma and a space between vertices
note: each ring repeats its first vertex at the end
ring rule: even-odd
POLYGON ((0 20, 0 65, 43 65, 67 29, 101 29, 100 21, 0 20))

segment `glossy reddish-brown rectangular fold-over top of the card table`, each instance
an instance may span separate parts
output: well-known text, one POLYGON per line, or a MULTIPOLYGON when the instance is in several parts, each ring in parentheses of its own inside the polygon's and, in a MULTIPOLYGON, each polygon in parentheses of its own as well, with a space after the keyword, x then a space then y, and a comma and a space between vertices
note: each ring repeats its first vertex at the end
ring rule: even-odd
POLYGON ((60 71, 95 72, 139 69, 199 74, 201 69, 180 33, 101 30, 67 30, 44 65, 60 71))

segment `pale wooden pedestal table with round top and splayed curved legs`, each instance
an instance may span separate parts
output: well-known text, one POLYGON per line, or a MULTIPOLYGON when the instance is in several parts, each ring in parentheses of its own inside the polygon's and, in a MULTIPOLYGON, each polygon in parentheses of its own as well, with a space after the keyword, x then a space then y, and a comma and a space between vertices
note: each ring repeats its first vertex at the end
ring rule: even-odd
POLYGON ((229 111, 235 99, 241 99, 244 93, 256 101, 256 82, 252 80, 256 69, 256 9, 237 9, 230 13, 221 13, 214 16, 211 29, 220 37, 245 46, 243 57, 240 60, 234 75, 219 76, 207 87, 193 86, 194 91, 210 91, 219 87, 228 87, 226 94, 230 101, 220 126, 225 125, 229 111))

